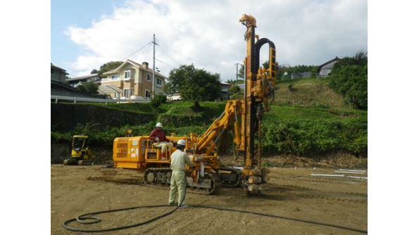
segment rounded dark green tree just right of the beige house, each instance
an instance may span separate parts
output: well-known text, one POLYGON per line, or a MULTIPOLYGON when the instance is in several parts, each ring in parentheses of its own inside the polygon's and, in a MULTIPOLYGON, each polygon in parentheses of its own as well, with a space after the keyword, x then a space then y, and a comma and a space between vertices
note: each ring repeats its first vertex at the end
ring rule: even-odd
POLYGON ((173 94, 180 92, 183 99, 194 101, 199 106, 199 101, 214 101, 218 99, 221 91, 220 75, 212 74, 203 69, 196 69, 194 64, 180 65, 170 71, 165 90, 173 94))

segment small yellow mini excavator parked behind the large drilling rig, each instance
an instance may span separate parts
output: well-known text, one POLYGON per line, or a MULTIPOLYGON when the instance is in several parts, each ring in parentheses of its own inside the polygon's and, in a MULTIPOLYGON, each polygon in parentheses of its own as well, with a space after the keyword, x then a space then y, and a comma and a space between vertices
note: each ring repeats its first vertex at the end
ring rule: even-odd
POLYGON ((65 159, 64 165, 92 165, 94 155, 86 146, 86 141, 89 136, 73 136, 71 141, 71 155, 70 158, 65 159))

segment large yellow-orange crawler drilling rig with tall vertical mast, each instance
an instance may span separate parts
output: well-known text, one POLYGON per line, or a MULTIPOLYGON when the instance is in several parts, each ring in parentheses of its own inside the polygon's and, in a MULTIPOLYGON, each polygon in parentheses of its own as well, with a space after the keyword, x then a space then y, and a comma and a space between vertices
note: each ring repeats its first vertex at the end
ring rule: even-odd
MULTIPOLYGON (((168 136, 174 142, 185 139, 186 153, 193 167, 187 174, 189 191, 213 194, 220 186, 242 185, 246 193, 261 193, 262 184, 268 181, 268 169, 261 167, 261 121, 269 110, 269 99, 273 99, 275 87, 275 44, 269 39, 259 39, 255 34, 256 20, 243 15, 239 20, 246 26, 244 39, 247 44, 245 65, 244 97, 230 100, 224 112, 204 134, 168 136), (259 68, 259 51, 269 45, 269 68, 259 68), (216 146, 220 137, 232 129, 234 148, 244 153, 244 167, 237 170, 221 167, 216 146), (255 139, 258 138, 257 148, 255 139)), ((144 183, 153 187, 170 186, 170 155, 176 147, 162 153, 149 136, 116 138, 113 142, 114 167, 137 169, 144 172, 144 183)))

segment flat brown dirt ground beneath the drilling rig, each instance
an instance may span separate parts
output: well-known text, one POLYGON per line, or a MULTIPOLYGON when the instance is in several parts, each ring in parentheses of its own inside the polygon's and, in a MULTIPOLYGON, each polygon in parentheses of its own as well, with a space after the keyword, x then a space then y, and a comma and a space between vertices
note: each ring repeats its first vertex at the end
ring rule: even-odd
MULTIPOLYGON (((366 179, 312 177, 337 174, 333 168, 270 167, 262 196, 241 188, 223 188, 216 195, 187 193, 188 204, 250 210, 301 220, 368 230, 366 179)), ((359 176, 359 175, 356 175, 359 176)), ((365 175, 367 174, 365 173, 365 175)), ((94 166, 51 165, 51 234, 80 234, 61 224, 87 212, 168 203, 168 190, 144 186, 135 170, 94 166)), ((148 220, 173 208, 152 208, 99 215, 101 222, 71 227, 99 229, 148 220)), ((187 208, 142 227, 100 234, 360 234, 304 222, 212 209, 187 208)))

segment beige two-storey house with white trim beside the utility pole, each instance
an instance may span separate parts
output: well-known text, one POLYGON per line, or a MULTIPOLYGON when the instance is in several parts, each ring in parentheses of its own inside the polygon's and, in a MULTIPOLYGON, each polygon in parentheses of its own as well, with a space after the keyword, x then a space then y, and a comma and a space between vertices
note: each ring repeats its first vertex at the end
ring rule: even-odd
MULTIPOLYGON (((151 99, 153 87, 153 70, 149 68, 149 63, 142 64, 127 60, 118 68, 104 72, 106 78, 101 80, 101 86, 113 85, 122 90, 109 95, 114 99, 151 99)), ((158 72, 154 72, 154 95, 163 94, 166 77, 158 72)))

